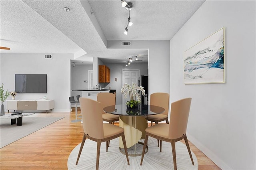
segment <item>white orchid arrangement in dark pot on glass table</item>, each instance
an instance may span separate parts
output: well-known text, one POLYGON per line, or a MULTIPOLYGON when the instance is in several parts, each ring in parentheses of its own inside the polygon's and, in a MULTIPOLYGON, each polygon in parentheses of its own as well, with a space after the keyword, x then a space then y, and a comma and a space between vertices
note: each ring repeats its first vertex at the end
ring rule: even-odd
POLYGON ((127 109, 138 108, 138 105, 140 104, 140 91, 142 95, 145 95, 144 87, 139 87, 136 83, 132 83, 132 85, 125 83, 123 85, 121 93, 124 95, 124 99, 127 99, 128 94, 130 97, 130 100, 126 102, 127 109))

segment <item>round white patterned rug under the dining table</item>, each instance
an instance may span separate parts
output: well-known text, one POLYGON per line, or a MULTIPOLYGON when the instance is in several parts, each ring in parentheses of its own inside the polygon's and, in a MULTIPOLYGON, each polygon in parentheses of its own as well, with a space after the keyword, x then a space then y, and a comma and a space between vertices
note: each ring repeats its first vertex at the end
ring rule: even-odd
MULTIPOLYGON (((82 139, 81 139, 82 140, 82 139)), ((143 140, 142 140, 143 141, 143 140)), ((72 150, 68 158, 69 170, 91 170, 96 168, 96 142, 86 139, 78 165, 76 159, 80 144, 72 150)), ((191 151, 192 152, 192 151, 191 151)), ((186 145, 176 142, 177 168, 183 170, 198 170, 198 161, 192 152, 194 166, 190 160, 186 145)), ((101 143, 99 169, 104 170, 170 170, 174 169, 172 160, 172 147, 168 142, 162 142, 162 152, 157 146, 157 140, 148 138, 148 152, 144 155, 142 166, 141 156, 129 156, 130 166, 127 164, 126 156, 119 151, 119 139, 110 141, 110 147, 106 152, 106 142, 101 143)))

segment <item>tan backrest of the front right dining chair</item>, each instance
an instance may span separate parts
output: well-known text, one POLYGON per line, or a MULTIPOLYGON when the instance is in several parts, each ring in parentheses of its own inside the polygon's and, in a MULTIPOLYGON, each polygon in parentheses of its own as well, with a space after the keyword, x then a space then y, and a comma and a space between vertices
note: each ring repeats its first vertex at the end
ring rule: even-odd
POLYGON ((171 105, 169 138, 176 139, 186 134, 191 98, 181 99, 171 105))

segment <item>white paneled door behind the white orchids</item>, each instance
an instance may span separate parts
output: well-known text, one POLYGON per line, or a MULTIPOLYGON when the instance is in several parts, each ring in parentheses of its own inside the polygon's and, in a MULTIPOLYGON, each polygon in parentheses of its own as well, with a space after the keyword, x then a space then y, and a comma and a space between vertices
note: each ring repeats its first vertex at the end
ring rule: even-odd
MULTIPOLYGON (((139 69, 130 69, 130 70, 122 70, 122 86, 127 83, 132 85, 132 83, 137 83, 140 77, 139 69)), ((129 99, 124 99, 122 95, 122 104, 125 104, 129 99)))

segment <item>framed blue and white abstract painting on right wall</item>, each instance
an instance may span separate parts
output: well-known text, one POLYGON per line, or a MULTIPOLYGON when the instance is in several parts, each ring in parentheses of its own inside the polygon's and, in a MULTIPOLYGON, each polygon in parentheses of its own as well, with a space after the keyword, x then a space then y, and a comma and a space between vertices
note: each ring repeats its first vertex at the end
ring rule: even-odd
POLYGON ((184 83, 225 83, 225 28, 184 52, 184 83))

